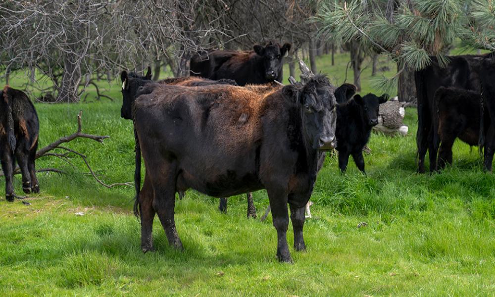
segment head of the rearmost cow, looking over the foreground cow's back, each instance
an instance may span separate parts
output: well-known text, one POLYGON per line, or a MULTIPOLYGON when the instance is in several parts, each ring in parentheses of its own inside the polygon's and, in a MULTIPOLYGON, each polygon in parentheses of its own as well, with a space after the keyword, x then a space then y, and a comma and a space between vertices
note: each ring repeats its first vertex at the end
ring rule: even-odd
POLYGON ((253 47, 254 52, 263 58, 263 70, 267 80, 275 80, 282 71, 284 55, 291 49, 291 44, 282 47, 276 42, 269 42, 264 48, 259 45, 253 47))

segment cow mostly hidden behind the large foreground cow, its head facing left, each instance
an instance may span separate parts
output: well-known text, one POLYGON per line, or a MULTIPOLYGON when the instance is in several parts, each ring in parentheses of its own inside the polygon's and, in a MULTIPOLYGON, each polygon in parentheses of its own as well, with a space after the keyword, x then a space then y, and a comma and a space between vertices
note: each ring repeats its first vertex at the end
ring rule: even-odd
MULTIPOLYGON (((132 119, 131 108, 134 100, 136 98, 136 92, 140 87, 143 87, 147 83, 151 83, 151 69, 148 67, 148 74, 146 76, 137 75, 134 72, 127 73, 123 71, 121 73, 122 80, 122 107, 120 110, 121 117, 125 119, 132 119)), ((207 86, 207 85, 233 85, 237 86, 236 82, 230 79, 220 79, 218 81, 213 81, 210 79, 200 78, 200 77, 179 77, 179 78, 169 78, 158 81, 161 84, 168 85, 178 85, 178 86, 207 86)), ((277 84, 265 84, 265 85, 247 85, 247 89, 255 91, 257 93, 271 92, 274 88, 280 88, 277 84)), ((136 159, 136 162, 141 162, 141 159, 136 159)), ((136 167, 139 168, 139 167, 136 167)), ((140 175, 141 171, 135 172, 135 174, 140 175)), ((139 184, 135 185, 140 187, 139 184)), ((184 196, 184 193, 179 193, 180 197, 184 196)), ((220 198, 218 205, 220 212, 227 212, 227 198, 220 198)), ((251 193, 247 193, 247 218, 256 217, 256 207, 254 206, 254 200, 251 193)))

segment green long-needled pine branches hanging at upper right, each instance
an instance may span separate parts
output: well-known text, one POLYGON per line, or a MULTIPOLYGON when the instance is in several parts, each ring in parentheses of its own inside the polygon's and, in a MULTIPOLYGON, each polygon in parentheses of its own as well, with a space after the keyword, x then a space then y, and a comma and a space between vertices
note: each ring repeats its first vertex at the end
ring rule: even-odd
POLYGON ((358 41, 370 55, 388 55, 397 74, 377 85, 400 100, 414 90, 414 70, 426 67, 430 55, 446 64, 456 38, 467 47, 495 50, 494 0, 324 0, 313 19, 319 33, 334 43, 358 41))

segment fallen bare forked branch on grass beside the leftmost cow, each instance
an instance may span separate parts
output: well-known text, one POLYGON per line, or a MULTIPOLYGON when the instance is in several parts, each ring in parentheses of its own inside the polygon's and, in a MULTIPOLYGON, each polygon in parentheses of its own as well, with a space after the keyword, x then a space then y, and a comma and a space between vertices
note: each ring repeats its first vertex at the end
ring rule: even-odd
MULTIPOLYGON (((71 142, 72 140, 76 139, 76 138, 88 138, 88 139, 92 139, 92 140, 96 140, 98 141, 99 143, 103 143, 103 140, 106 139, 106 138, 110 138, 109 136, 99 136, 99 135, 92 135, 92 134, 85 134, 85 133, 82 133, 82 124, 81 124, 81 115, 83 114, 82 111, 79 112, 79 114, 77 115, 77 131, 69 136, 63 136, 63 137, 60 137, 59 139, 57 139, 56 141, 52 142, 51 144, 49 144, 48 146, 44 147, 44 148, 41 148, 40 150, 38 150, 36 152, 36 159, 38 158, 41 158, 41 157, 45 157, 45 156, 55 156, 57 158, 60 158, 66 162, 68 162, 72 167, 74 167, 74 165, 68 160, 68 157, 67 157, 67 153, 52 153, 52 152, 49 152, 55 148, 59 148, 59 149, 64 149, 66 150, 67 152, 71 152, 71 153, 74 153, 74 154, 77 154, 78 156, 80 156, 84 163, 86 164, 86 166, 88 167, 88 169, 90 170, 90 173, 91 175, 97 180, 97 182, 99 182, 101 185, 103 185, 104 187, 107 187, 107 188, 112 188, 112 187, 115 187, 115 186, 132 186, 133 184, 132 183, 116 183, 116 184, 110 184, 110 185, 107 185, 105 183, 103 183, 95 174, 95 172, 93 171, 93 169, 91 168, 89 162, 88 162, 88 159, 86 157, 86 155, 78 152, 78 151, 75 151, 73 149, 70 149, 70 148, 65 148, 65 147, 61 147, 60 145, 63 144, 63 143, 68 143, 68 142, 71 142)), ((64 173, 63 171, 57 169, 57 168, 42 168, 42 169, 38 169, 37 172, 56 172, 56 173, 64 173)), ((14 174, 18 174, 20 173, 20 170, 19 170, 19 166, 17 166, 14 170, 14 174)), ((0 174, 0 176, 3 176, 3 172, 0 174)))

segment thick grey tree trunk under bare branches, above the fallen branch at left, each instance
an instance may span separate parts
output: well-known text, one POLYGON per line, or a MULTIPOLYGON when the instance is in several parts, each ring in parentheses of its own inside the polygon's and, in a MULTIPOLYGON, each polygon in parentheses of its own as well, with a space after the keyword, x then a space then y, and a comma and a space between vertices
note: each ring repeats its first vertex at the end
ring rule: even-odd
POLYGON ((78 102, 77 90, 81 82, 81 65, 74 54, 64 55, 62 82, 57 102, 78 102))

